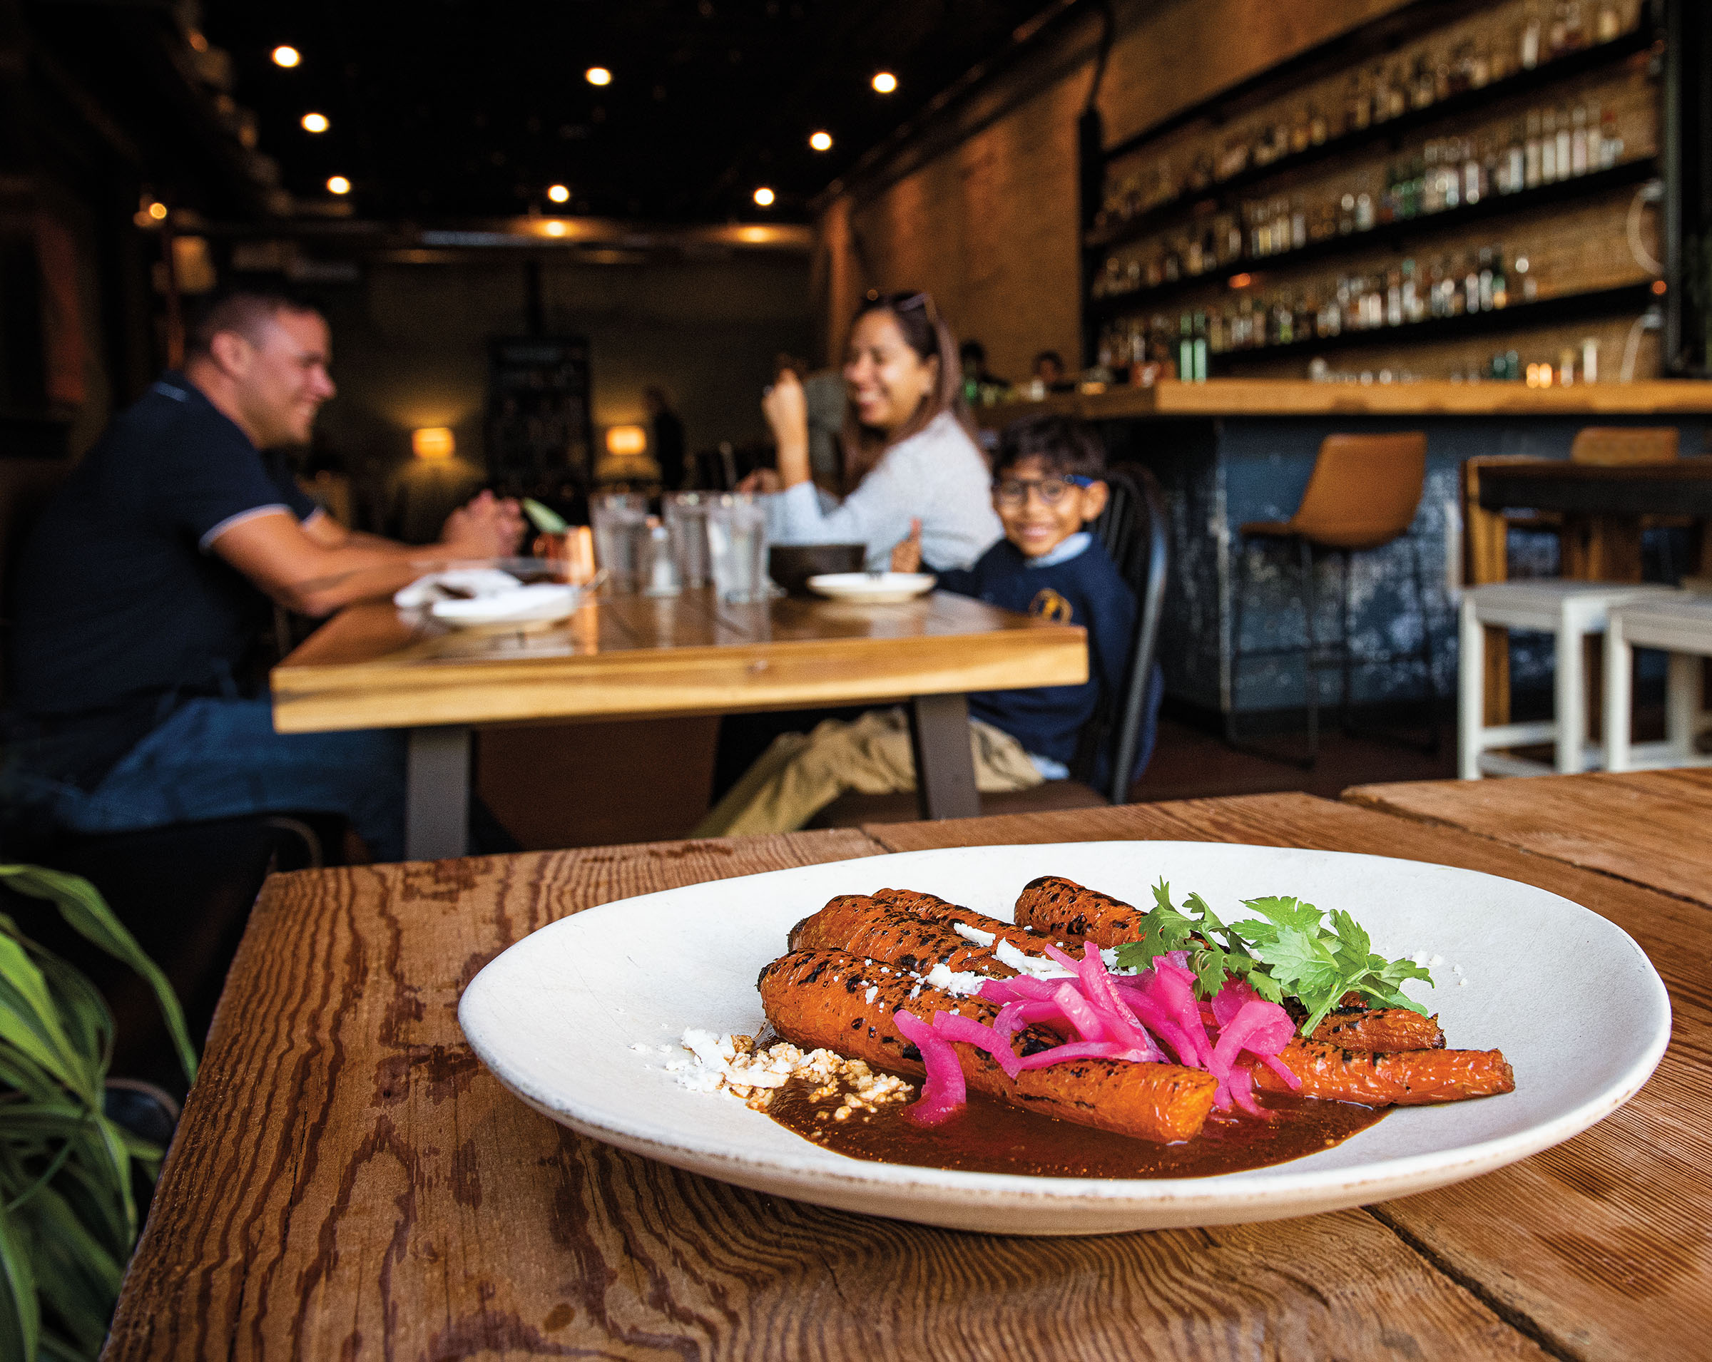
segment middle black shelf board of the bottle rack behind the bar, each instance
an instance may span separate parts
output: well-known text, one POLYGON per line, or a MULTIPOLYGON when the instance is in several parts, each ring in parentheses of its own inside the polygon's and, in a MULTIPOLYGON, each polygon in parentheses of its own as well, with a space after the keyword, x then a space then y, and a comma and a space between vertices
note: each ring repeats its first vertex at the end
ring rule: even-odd
POLYGON ((1113 317, 1123 317, 1125 313, 1144 311, 1193 289, 1217 286, 1221 277, 1231 275, 1234 270, 1248 272, 1270 270, 1282 265, 1305 265, 1315 260, 1347 255, 1361 246, 1382 243, 1390 243, 1397 252, 1402 252, 1407 241, 1419 240, 1428 233, 1455 231, 1503 214, 1549 207, 1570 198, 1582 198, 1611 188, 1638 185, 1645 180, 1652 180, 1657 173, 1657 157, 1644 156, 1609 166, 1608 169, 1587 171, 1585 175, 1573 176, 1570 180, 1558 180, 1551 185, 1539 185, 1531 190, 1524 188, 1515 193, 1488 193, 1472 204, 1459 204, 1453 209, 1421 212, 1412 217, 1395 217, 1390 221, 1375 221, 1371 228, 1325 236, 1318 241, 1308 241, 1303 246, 1291 246, 1289 250, 1279 250, 1270 255, 1253 257, 1245 252, 1236 258, 1228 260, 1216 269, 1202 270, 1200 274, 1183 274, 1178 279, 1162 284, 1097 294, 1087 305, 1087 317, 1099 323, 1113 317))

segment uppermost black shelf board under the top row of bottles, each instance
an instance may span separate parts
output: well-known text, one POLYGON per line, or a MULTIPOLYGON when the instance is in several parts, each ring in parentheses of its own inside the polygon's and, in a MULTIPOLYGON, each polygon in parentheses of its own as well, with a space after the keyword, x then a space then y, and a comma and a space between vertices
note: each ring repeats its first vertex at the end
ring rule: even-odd
MULTIPOLYGON (((1519 68, 1513 75, 1488 80, 1479 87, 1471 87, 1448 94, 1443 99, 1433 99, 1431 103, 1407 108, 1402 113, 1387 116, 1382 121, 1371 121, 1370 115, 1366 123, 1346 128, 1335 135, 1322 130, 1320 140, 1313 140, 1317 128, 1315 123, 1310 121, 1306 132, 1308 145, 1299 151, 1286 151, 1267 161, 1257 161, 1253 159, 1253 154, 1250 154, 1248 164, 1233 175, 1214 178, 1202 185, 1190 185, 1181 193, 1176 193, 1161 204, 1121 216, 1106 224, 1097 224, 1084 238, 1085 245, 1091 250, 1109 250, 1111 246, 1133 241, 1138 236, 1145 236, 1149 231, 1166 226, 1188 214, 1228 207, 1231 202, 1229 195, 1251 188, 1274 176, 1282 176, 1317 161, 1344 152, 1361 151, 1387 140, 1399 144, 1402 137, 1411 132, 1418 132, 1430 123, 1465 116, 1503 99, 1525 98, 1529 94, 1541 92, 1549 86, 1601 70, 1602 67, 1616 65, 1635 53, 1649 51, 1656 41, 1657 39, 1649 29, 1630 29, 1628 33, 1620 33, 1616 38, 1608 41, 1585 48, 1575 48, 1561 56, 1539 62, 1532 68, 1519 68)), ((1108 164, 1135 152, 1140 145, 1140 142, 1130 139, 1128 142, 1109 149, 1106 152, 1108 164)))

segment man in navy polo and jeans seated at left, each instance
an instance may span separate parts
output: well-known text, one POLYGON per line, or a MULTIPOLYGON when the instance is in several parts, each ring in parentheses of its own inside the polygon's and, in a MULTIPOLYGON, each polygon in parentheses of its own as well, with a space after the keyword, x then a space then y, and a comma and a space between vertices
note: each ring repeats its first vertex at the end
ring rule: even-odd
POLYGON ((344 813, 377 861, 402 856, 402 737, 274 732, 253 643, 269 601, 330 614, 419 560, 508 554, 522 522, 483 493, 423 549, 324 515, 265 452, 308 441, 329 356, 313 308, 228 294, 183 373, 120 412, 53 496, 12 583, 0 797, 89 833, 344 813))

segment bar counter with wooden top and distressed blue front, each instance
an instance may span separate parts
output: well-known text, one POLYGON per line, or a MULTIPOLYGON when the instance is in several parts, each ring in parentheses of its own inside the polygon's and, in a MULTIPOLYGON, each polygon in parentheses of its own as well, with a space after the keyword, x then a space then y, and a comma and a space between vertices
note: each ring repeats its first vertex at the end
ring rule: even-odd
MULTIPOLYGON (((1358 657, 1409 654, 1423 623, 1433 631, 1435 683, 1453 695, 1455 614, 1450 589, 1460 580, 1459 469, 1476 455, 1568 459, 1585 426, 1676 426, 1681 453, 1707 452, 1712 383, 1656 380, 1529 388, 1524 383, 1311 383, 1214 378, 1205 383, 1111 387, 979 409, 990 429, 1044 412, 1099 424, 1113 462, 1140 462, 1159 477, 1171 505, 1171 577, 1159 655, 1166 691, 1202 710, 1260 712, 1301 705, 1296 657, 1245 659, 1239 695, 1231 686, 1231 604, 1236 530, 1250 520, 1287 520, 1301 501, 1327 435, 1426 431, 1428 465, 1421 508, 1409 537, 1428 575, 1426 619, 1409 585, 1409 551, 1399 541, 1354 558, 1352 628, 1358 657)), ((1534 546, 1549 554, 1549 548, 1534 546)), ((1299 645, 1294 558, 1279 551, 1248 560, 1243 611, 1245 652, 1299 645)), ((1549 565, 1548 565, 1549 566, 1549 565)), ((1681 561, 1678 571, 1695 565, 1681 561)), ((1339 637, 1342 583, 1332 560, 1318 565, 1315 637, 1339 637)), ((1544 684, 1549 650, 1513 642, 1515 684, 1544 684)), ((1339 700, 1337 671, 1320 674, 1323 703, 1339 700)), ((1421 666, 1409 659, 1358 664, 1358 703, 1419 698, 1421 666)))

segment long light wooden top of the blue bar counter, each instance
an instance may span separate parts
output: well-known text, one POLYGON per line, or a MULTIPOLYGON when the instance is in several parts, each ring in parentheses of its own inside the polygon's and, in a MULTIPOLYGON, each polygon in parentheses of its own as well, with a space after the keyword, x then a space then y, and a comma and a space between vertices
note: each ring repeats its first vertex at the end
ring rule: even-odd
POLYGON ((1712 382, 1666 378, 1642 383, 1310 383, 1289 378, 1209 378, 1205 383, 1109 387, 1058 394, 1044 402, 979 407, 983 426, 1058 412, 1084 421, 1149 416, 1705 416, 1712 382))

